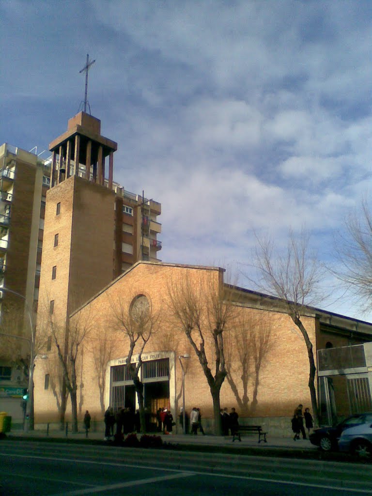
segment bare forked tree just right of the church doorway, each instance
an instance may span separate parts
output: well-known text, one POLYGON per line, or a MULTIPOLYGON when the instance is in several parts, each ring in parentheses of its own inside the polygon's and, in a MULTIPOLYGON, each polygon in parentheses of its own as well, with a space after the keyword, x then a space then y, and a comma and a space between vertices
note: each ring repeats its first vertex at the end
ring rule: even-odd
POLYGON ((191 278, 185 273, 182 279, 168 285, 170 313, 185 332, 208 381, 216 435, 221 434, 220 391, 227 374, 224 333, 234 316, 233 305, 224 298, 220 276, 222 274, 216 281, 210 274, 205 278, 191 278), (210 348, 210 352, 206 348, 210 348))

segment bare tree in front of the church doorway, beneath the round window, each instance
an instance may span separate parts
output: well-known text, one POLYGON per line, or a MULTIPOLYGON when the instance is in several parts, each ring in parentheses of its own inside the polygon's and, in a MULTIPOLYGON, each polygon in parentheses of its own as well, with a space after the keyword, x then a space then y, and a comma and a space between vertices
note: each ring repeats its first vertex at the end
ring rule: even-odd
POLYGON ((138 295, 131 301, 119 298, 110 301, 113 314, 113 327, 124 333, 129 340, 129 352, 126 367, 133 380, 138 399, 141 432, 146 432, 143 383, 139 378, 142 367, 142 353, 150 337, 158 330, 160 314, 155 313, 144 295, 138 295), (138 355, 136 363, 131 359, 134 351, 138 355))

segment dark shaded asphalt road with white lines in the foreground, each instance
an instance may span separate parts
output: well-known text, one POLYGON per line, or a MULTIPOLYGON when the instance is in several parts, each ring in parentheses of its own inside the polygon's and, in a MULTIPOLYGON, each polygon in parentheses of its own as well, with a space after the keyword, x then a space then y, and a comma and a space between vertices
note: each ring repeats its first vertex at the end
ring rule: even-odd
POLYGON ((215 453, 0 442, 1 496, 372 494, 372 465, 215 453))

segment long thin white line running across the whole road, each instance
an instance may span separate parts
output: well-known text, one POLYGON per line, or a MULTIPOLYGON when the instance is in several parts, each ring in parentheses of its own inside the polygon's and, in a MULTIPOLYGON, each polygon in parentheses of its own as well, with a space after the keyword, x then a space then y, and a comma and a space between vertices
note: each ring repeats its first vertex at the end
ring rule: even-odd
MULTIPOLYGON (((164 468, 164 467, 154 467, 154 466, 149 466, 149 465, 134 465, 130 463, 112 463, 112 462, 99 462, 99 461, 92 461, 92 460, 77 460, 75 458, 51 458, 47 456, 35 456, 35 455, 19 455, 19 454, 12 454, 10 452, 6 453, 0 453, 1 455, 6 455, 6 456, 14 456, 17 458, 33 458, 33 459, 41 459, 41 460, 50 460, 50 461, 65 461, 65 462, 72 462, 72 463, 86 463, 86 464, 91 464, 91 465, 109 465, 110 467, 128 467, 128 468, 138 468, 138 469, 148 469, 148 470, 161 470, 162 472, 177 472, 180 473, 180 469, 172 469, 172 468, 164 468)), ((226 477, 230 479, 244 479, 248 481, 259 481, 259 482, 272 482, 272 483, 280 483, 280 484, 287 484, 290 486, 306 486, 309 488, 321 488, 321 489, 334 489, 337 491, 349 491, 353 493, 362 493, 366 495, 371 495, 370 490, 366 489, 357 489, 357 488, 349 488, 347 486, 329 486, 329 485, 323 485, 323 484, 314 484, 311 482, 296 482, 296 481, 283 481, 282 479, 268 479, 264 477, 249 477, 249 476, 244 476, 244 475, 232 475, 232 474, 223 474, 223 473, 209 473, 209 472, 201 472, 197 470, 182 470, 182 473, 188 473, 189 475, 204 475, 204 476, 209 476, 209 477, 226 477)), ((347 484, 347 481, 345 481, 347 484)), ((72 483, 73 484, 73 483, 72 483)), ((58 495, 60 496, 60 495, 58 495)))

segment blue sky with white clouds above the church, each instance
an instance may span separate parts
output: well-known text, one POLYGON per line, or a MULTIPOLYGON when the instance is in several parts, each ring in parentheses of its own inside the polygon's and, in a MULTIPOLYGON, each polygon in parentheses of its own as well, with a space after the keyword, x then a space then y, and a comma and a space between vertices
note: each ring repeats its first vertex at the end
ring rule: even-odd
MULTIPOLYGON (((0 142, 38 153, 88 101, 118 142, 114 180, 162 204, 165 262, 252 274, 256 238, 305 226, 327 267, 370 201, 370 0, 0 2, 0 142)), ((48 157, 48 153, 41 155, 48 157)))

